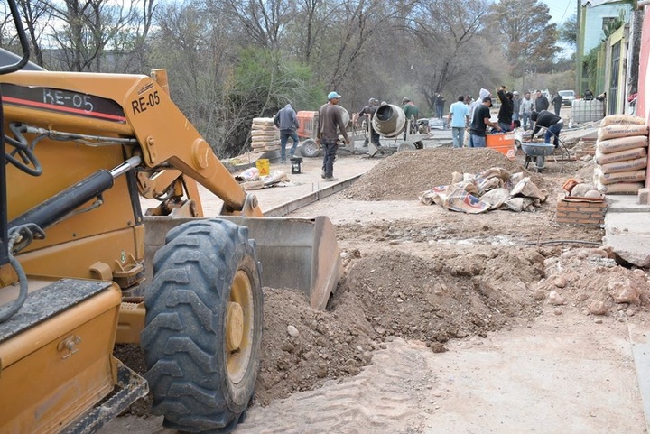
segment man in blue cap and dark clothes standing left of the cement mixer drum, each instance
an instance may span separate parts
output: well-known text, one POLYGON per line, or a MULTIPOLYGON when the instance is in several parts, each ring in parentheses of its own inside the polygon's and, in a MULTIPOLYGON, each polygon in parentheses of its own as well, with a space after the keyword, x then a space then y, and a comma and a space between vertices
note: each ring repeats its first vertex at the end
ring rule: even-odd
POLYGON ((334 178, 334 160, 339 150, 339 133, 343 134, 345 143, 349 143, 346 125, 343 124, 343 116, 337 105, 340 95, 337 92, 328 94, 327 104, 320 106, 319 122, 316 128, 316 143, 320 143, 324 150, 322 177, 330 182, 334 178))

